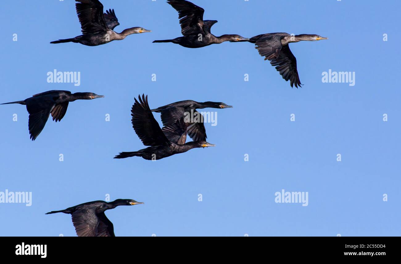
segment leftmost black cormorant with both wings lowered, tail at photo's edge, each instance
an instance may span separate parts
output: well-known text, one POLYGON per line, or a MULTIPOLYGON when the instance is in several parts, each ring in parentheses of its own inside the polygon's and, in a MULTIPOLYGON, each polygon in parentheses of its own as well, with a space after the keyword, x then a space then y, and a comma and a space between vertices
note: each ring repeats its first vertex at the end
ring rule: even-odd
POLYGON ((94 93, 71 93, 70 91, 52 90, 38 93, 24 101, 4 103, 2 105, 26 105, 26 110, 29 113, 29 134, 32 141, 34 141, 45 127, 50 114, 53 117, 53 121, 61 121, 67 112, 69 102, 103 97, 104 95, 96 95, 94 93))

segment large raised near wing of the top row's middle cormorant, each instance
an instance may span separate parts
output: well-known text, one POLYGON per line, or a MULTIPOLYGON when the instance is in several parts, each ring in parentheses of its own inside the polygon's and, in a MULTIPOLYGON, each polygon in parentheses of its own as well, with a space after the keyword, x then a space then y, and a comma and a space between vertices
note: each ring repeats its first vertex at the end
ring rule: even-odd
POLYGON ((203 8, 186 0, 168 0, 167 3, 178 11, 182 35, 190 36, 205 33, 203 30, 203 13, 205 10, 203 8))

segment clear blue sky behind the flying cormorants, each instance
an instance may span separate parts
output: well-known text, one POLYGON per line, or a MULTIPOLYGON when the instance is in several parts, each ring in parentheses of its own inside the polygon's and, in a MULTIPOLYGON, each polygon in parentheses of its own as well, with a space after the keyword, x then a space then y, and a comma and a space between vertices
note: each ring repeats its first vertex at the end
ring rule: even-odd
POLYGON ((219 20, 212 29, 218 36, 329 37, 290 44, 301 89, 291 89, 251 43, 152 44, 181 36, 178 14, 164 0, 102 2, 114 8, 117 32, 153 32, 97 47, 53 45, 81 32, 72 0, 2 2, 1 103, 54 89, 105 98, 71 103, 61 123, 49 120, 35 142, 25 107, 0 107, 0 191, 33 196, 30 207, 0 204, 0 235, 75 236, 69 215, 45 213, 107 193, 145 202, 106 212, 117 236, 401 235, 399 1, 194 1, 205 19, 219 20), (80 71, 81 86, 47 83, 53 69, 80 71), (322 83, 329 69, 356 72, 356 85, 322 83), (130 122, 142 93, 153 108, 186 99, 234 108, 208 109, 218 112, 218 125, 206 124, 217 147, 156 162, 112 159, 144 148, 130 122), (276 204, 281 189, 308 191, 309 205, 276 204))

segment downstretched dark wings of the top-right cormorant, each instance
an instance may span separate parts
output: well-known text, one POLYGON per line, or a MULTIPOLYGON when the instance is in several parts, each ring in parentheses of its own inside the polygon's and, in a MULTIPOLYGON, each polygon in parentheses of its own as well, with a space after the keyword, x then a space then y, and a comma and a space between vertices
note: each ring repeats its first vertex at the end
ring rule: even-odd
POLYGON ((282 34, 265 34, 259 35, 253 39, 256 49, 265 60, 269 60, 272 66, 282 75, 286 81, 290 80, 291 87, 301 86, 300 78, 297 71, 297 60, 292 54, 288 45, 283 46, 281 43, 282 34))

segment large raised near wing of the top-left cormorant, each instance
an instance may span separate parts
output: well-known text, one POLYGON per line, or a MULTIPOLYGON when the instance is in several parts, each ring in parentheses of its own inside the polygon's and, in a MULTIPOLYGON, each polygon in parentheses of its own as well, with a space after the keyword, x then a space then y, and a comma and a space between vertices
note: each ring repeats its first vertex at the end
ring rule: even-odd
POLYGON ((75 0, 75 2, 82 34, 106 32, 109 29, 104 20, 103 5, 99 0, 75 0))

